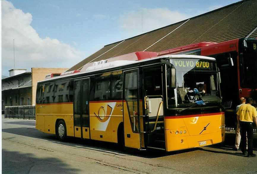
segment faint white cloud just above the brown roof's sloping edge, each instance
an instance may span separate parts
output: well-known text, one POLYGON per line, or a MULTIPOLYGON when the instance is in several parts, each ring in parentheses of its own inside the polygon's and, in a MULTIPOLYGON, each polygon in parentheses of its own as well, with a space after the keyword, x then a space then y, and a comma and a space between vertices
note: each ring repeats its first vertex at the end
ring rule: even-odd
POLYGON ((142 34, 187 18, 188 15, 167 8, 141 8, 139 11, 131 10, 120 15, 118 25, 128 32, 142 34))

